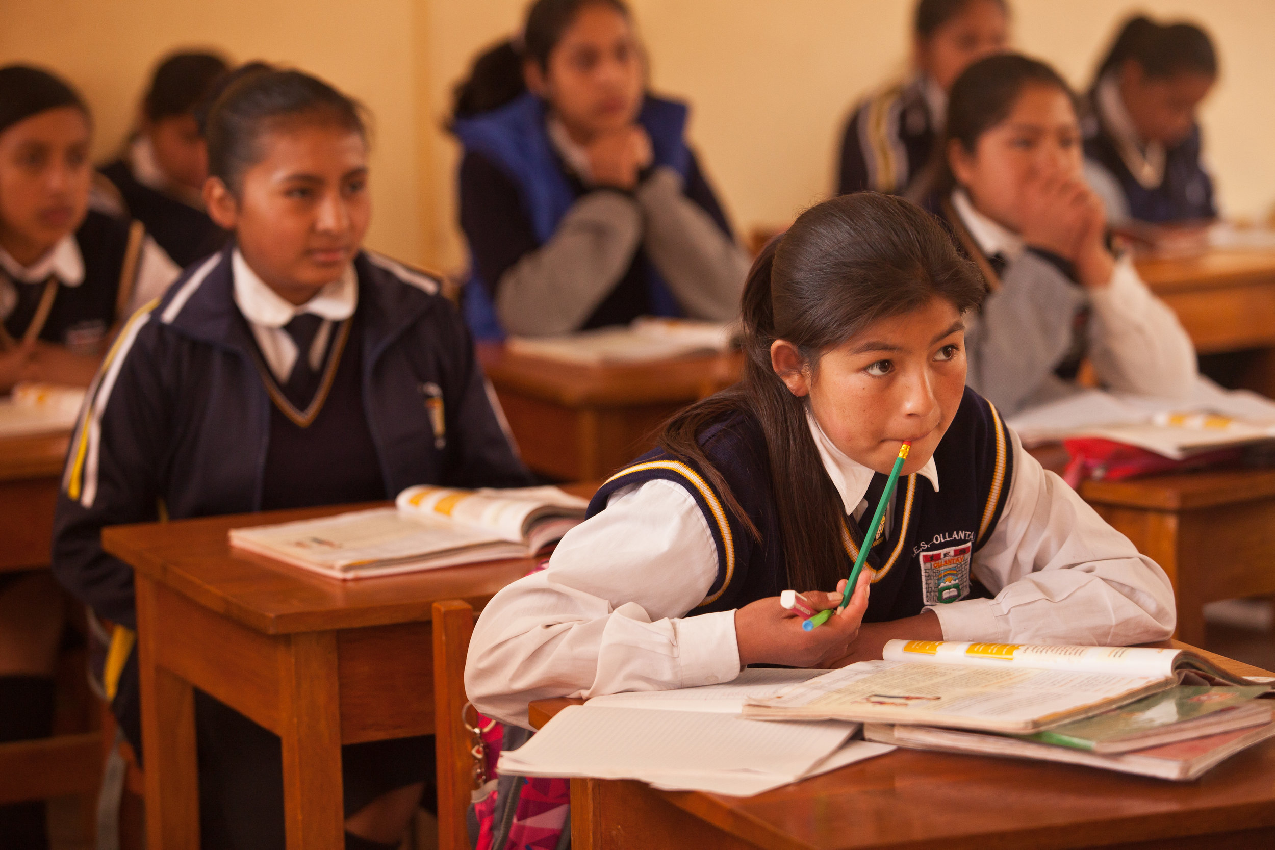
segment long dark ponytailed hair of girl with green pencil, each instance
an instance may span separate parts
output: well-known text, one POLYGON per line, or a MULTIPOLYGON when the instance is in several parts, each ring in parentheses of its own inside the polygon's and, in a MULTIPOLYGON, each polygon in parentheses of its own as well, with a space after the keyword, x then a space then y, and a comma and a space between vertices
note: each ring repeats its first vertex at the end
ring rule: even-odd
POLYGON ((731 414, 760 422, 792 587, 831 590, 848 573, 845 511, 806 424, 806 400, 775 373, 770 345, 776 339, 792 343, 817 373, 825 350, 933 298, 947 299, 960 312, 983 298, 982 277, 937 219, 901 198, 876 192, 812 206, 761 251, 748 273, 743 380, 676 414, 664 428, 660 446, 699 466, 757 535, 699 435, 731 414))

